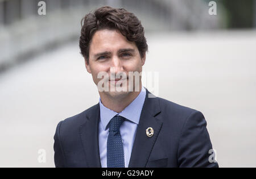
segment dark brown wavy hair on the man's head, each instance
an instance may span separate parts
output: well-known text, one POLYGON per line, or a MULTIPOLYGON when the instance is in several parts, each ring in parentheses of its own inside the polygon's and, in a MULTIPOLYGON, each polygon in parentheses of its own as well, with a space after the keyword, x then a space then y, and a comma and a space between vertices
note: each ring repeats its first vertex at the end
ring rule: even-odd
POLYGON ((81 20, 81 26, 79 47, 87 63, 89 63, 90 41, 94 33, 102 29, 118 30, 127 40, 134 41, 141 57, 147 51, 147 41, 141 21, 125 9, 100 7, 93 14, 86 14, 81 20))

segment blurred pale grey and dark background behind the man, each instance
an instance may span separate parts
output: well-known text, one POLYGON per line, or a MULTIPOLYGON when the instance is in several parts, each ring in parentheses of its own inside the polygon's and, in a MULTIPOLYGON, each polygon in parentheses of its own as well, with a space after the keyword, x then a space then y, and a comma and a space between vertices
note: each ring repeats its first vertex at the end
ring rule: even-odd
POLYGON ((0 167, 54 167, 57 123, 98 102, 79 36, 104 5, 145 28, 143 85, 204 114, 220 167, 256 167, 256 1, 43 2, 0 0, 0 167))

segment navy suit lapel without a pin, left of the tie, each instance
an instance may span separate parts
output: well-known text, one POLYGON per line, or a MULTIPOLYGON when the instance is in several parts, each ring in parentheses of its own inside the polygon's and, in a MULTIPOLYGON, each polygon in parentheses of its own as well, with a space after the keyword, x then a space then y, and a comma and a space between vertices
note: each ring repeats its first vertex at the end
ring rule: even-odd
POLYGON ((80 126, 80 136, 84 147, 88 167, 101 167, 98 148, 98 122, 100 120, 99 103, 88 111, 87 119, 80 126))

